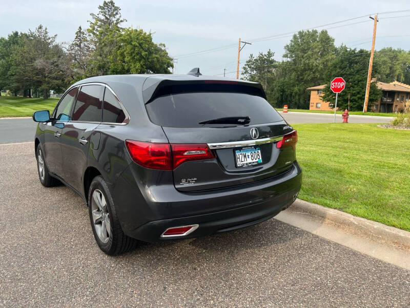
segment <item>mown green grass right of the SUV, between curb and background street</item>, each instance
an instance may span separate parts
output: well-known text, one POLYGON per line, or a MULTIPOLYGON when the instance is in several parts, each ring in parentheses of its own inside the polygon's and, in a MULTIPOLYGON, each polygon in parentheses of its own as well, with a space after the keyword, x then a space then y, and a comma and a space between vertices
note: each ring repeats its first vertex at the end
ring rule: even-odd
POLYGON ((410 131, 298 124, 299 198, 410 231, 410 131))

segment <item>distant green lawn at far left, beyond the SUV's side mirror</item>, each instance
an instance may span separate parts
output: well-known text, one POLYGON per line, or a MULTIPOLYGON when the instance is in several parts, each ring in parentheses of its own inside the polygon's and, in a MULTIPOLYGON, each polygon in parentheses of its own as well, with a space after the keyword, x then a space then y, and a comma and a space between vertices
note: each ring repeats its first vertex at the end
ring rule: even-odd
POLYGON ((31 117, 34 111, 50 110, 57 105, 58 99, 28 99, 23 97, 0 97, 0 118, 31 117))

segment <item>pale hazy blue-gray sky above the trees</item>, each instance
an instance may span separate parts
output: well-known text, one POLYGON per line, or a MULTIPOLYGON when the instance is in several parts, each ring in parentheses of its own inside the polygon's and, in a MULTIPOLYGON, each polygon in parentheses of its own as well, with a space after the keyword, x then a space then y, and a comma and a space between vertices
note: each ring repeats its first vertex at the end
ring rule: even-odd
MULTIPOLYGON (((176 60, 174 73, 187 73, 199 67, 203 74, 235 78, 238 38, 251 40, 240 53, 240 68, 249 55, 275 52, 282 60, 284 45, 292 33, 327 28, 335 44, 371 49, 373 21, 368 15, 379 13, 376 50, 383 47, 410 50, 410 2, 408 0, 372 1, 139 1, 114 0, 127 19, 124 27, 153 32, 155 43, 166 45, 176 60), (407 12, 385 13, 408 10, 407 12), (359 17, 344 23, 336 23, 359 17), (392 18, 393 17, 393 18, 392 18), (283 34, 283 35, 280 35, 283 34), (275 36, 276 35, 276 36, 275 36), (274 36, 268 40, 255 38, 274 36), (224 46, 227 46, 226 48, 224 46), (213 52, 187 54, 224 47, 213 52)), ((27 32, 43 24, 58 42, 70 42, 78 26, 88 27, 90 13, 98 12, 103 0, 0 0, 0 36, 12 31, 27 32)))

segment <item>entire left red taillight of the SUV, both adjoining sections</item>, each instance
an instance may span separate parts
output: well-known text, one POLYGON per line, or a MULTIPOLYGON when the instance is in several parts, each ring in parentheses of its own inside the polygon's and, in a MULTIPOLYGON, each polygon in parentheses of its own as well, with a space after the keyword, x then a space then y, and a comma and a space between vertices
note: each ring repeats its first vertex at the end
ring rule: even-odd
POLYGON ((131 158, 142 167, 172 170, 187 161, 214 159, 207 144, 169 144, 126 140, 131 158))

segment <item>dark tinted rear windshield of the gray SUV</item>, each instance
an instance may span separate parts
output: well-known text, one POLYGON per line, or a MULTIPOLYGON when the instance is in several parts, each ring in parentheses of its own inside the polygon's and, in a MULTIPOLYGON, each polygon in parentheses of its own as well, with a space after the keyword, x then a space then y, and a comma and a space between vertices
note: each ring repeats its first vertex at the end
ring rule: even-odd
POLYGON ((167 127, 202 127, 200 122, 226 117, 250 117, 249 125, 283 120, 265 99, 234 92, 168 94, 157 97, 146 108, 153 123, 167 127))

